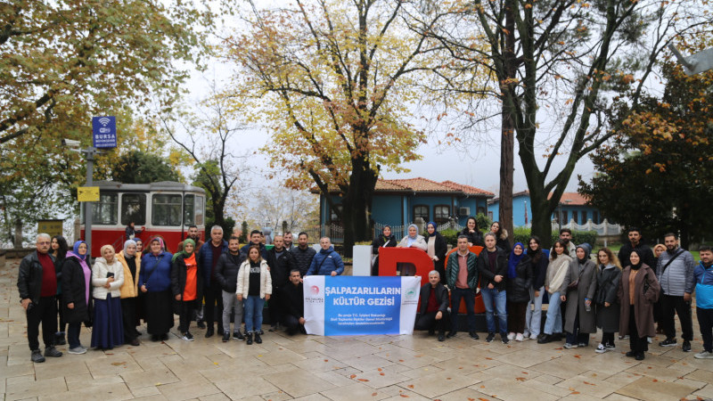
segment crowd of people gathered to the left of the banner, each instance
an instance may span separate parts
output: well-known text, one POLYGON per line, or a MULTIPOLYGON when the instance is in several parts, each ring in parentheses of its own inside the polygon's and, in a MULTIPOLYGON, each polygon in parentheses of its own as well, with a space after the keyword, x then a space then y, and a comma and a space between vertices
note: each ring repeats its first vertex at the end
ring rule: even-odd
POLYGON ((191 225, 175 254, 168 252, 160 236, 148 241, 144 250, 136 234, 131 233, 119 253, 111 245, 102 246, 94 263, 85 241, 70 249, 61 235, 37 235, 36 250, 20 262, 17 282, 32 361, 61 356, 55 345, 68 342, 70 354, 86 353, 79 340, 82 324, 92 327, 91 348, 139 346, 141 319, 152 341, 168 340, 174 315, 179 315, 183 340, 194 340, 189 329, 196 320, 206 329, 206 338, 215 334, 217 323, 224 342, 232 337, 259 344, 266 301, 273 321, 270 331, 306 332, 302 277, 344 271, 330 239, 321 238, 321 250, 316 252, 307 244, 307 233, 299 233, 297 246, 291 233, 276 235, 268 250, 258 230, 241 248, 236 236, 225 241, 218 225, 211 228, 206 243, 191 225), (44 356, 38 341, 40 323, 44 356))

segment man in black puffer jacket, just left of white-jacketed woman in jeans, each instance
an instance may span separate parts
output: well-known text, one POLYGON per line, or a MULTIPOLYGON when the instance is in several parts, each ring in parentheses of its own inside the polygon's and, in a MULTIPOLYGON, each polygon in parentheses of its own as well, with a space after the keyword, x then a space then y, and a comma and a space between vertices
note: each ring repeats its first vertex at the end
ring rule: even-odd
POLYGON ((238 237, 230 237, 228 241, 228 251, 220 255, 217 259, 216 281, 223 291, 223 342, 230 340, 230 317, 234 317, 234 340, 245 340, 240 332, 242 322, 242 300, 235 297, 238 282, 238 272, 245 260, 245 256, 240 252, 240 240, 238 237))

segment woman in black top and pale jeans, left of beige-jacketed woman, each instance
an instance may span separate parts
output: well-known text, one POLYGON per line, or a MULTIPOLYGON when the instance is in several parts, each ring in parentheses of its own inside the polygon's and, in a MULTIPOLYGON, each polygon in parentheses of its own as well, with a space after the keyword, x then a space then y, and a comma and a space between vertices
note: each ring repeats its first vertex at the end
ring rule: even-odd
POLYGON ((545 298, 545 276, 549 262, 549 251, 543 250, 540 239, 533 235, 529 237, 528 257, 532 266, 532 288, 529 304, 525 308, 525 331, 523 335, 531 340, 537 340, 542 327, 542 300, 545 298))

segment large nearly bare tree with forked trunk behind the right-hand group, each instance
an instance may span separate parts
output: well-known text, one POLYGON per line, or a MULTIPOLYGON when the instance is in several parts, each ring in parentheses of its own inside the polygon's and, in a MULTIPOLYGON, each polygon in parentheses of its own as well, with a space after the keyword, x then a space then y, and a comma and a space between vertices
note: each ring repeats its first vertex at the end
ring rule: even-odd
MULTIPOLYGON (((472 0, 430 10, 441 16, 432 35, 451 50, 454 68, 491 78, 482 85, 449 79, 446 87, 500 103, 489 115, 500 116, 504 136, 514 128, 514 137, 504 137, 501 179, 510 180, 506 156, 517 141, 533 233, 549 242, 552 213, 578 160, 613 135, 612 102, 626 95, 629 110, 637 110, 662 49, 676 36, 709 29, 703 3, 472 0)), ((488 111, 471 115, 486 119, 488 111)))

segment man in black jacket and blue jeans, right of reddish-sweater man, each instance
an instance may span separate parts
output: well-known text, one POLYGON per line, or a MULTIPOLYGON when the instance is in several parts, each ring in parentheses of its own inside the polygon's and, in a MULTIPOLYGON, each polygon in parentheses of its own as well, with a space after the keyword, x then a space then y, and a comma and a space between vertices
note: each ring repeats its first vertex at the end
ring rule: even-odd
POLYGON ((507 274, 507 259, 503 250, 496 247, 496 234, 485 234, 485 250, 478 255, 478 272, 480 274, 480 294, 485 304, 485 320, 488 323, 487 342, 495 338, 496 318, 500 329, 500 340, 507 344, 507 298, 505 295, 505 276, 507 274), (495 308, 494 308, 495 307, 495 308), (495 309, 495 310, 494 310, 495 309))

